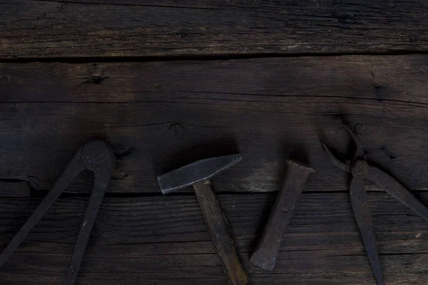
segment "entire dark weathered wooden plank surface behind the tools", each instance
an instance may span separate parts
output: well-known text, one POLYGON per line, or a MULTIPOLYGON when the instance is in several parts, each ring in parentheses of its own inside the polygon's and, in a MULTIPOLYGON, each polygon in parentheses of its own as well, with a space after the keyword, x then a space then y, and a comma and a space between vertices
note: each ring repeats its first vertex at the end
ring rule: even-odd
MULTIPOLYGON (((93 138, 117 163, 78 284, 225 284, 191 190, 156 175, 213 155, 252 284, 374 284, 348 177, 367 159, 428 205, 425 1, 0 0, 0 250, 93 138), (285 173, 310 163, 272 272, 248 264, 285 173)), ((0 268, 0 284, 61 284, 93 177, 83 172, 0 268)), ((427 284, 428 223, 367 183, 387 284, 427 284)))

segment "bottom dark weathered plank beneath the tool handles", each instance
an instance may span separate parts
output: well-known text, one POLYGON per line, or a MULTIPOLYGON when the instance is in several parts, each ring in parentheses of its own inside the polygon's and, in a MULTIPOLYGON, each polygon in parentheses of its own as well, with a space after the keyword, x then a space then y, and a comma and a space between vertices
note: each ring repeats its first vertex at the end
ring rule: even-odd
MULTIPOLYGON (((374 284, 345 193, 304 193, 274 271, 251 267, 248 256, 274 197, 218 195, 252 284, 374 284)), ((39 202, 0 199, 0 249, 39 202)), ((428 223, 382 193, 370 193, 370 206, 387 282, 424 284, 428 223)), ((0 268, 0 279, 60 284, 85 207, 81 197, 59 199, 0 268)), ((78 281, 225 284, 225 277, 195 197, 132 197, 104 199, 78 281)))

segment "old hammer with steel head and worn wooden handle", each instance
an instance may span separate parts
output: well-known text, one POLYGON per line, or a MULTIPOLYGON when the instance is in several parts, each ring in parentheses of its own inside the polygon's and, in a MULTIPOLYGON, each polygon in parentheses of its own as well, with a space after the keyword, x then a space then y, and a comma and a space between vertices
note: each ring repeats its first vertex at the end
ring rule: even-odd
POLYGON ((205 160, 198 160, 158 176, 158 182, 163 194, 180 190, 190 185, 195 190, 196 197, 202 210, 205 223, 213 239, 218 255, 223 261, 230 285, 248 284, 242 264, 238 259, 235 242, 230 234, 228 221, 211 188, 210 178, 219 172, 240 162, 240 155, 225 155, 205 160))

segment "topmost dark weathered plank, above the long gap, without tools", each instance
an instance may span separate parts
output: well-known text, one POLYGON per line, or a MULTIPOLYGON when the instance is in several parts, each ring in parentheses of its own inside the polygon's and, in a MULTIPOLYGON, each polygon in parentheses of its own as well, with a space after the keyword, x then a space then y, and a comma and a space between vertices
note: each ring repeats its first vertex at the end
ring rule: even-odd
POLYGON ((1 1, 0 58, 428 50, 425 1, 1 1))

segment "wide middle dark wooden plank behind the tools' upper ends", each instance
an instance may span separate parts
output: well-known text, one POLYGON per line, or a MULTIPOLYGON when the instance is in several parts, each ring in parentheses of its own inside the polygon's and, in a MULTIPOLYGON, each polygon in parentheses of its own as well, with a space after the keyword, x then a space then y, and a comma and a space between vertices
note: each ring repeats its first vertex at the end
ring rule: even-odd
POLYGON ((345 121, 370 162, 427 190, 427 66, 421 55, 3 63, 1 181, 49 190, 81 143, 104 138, 118 156, 108 192, 160 193, 156 175, 235 152, 243 162, 215 177, 216 191, 275 191, 287 158, 317 169, 306 191, 345 191, 320 146, 345 155, 345 121))

